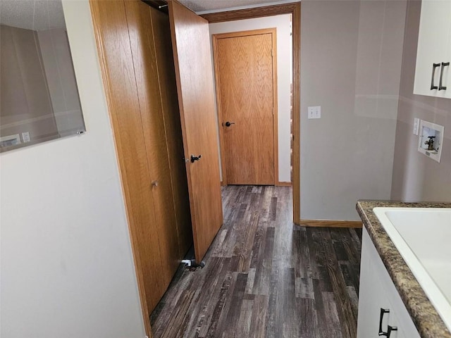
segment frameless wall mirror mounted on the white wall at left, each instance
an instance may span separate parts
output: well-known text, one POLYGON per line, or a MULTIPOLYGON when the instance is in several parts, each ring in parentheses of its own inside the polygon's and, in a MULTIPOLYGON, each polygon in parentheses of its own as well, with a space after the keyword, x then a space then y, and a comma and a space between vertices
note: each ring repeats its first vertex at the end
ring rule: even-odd
POLYGON ((1 0, 0 40, 0 152, 85 132, 61 0, 1 0))

